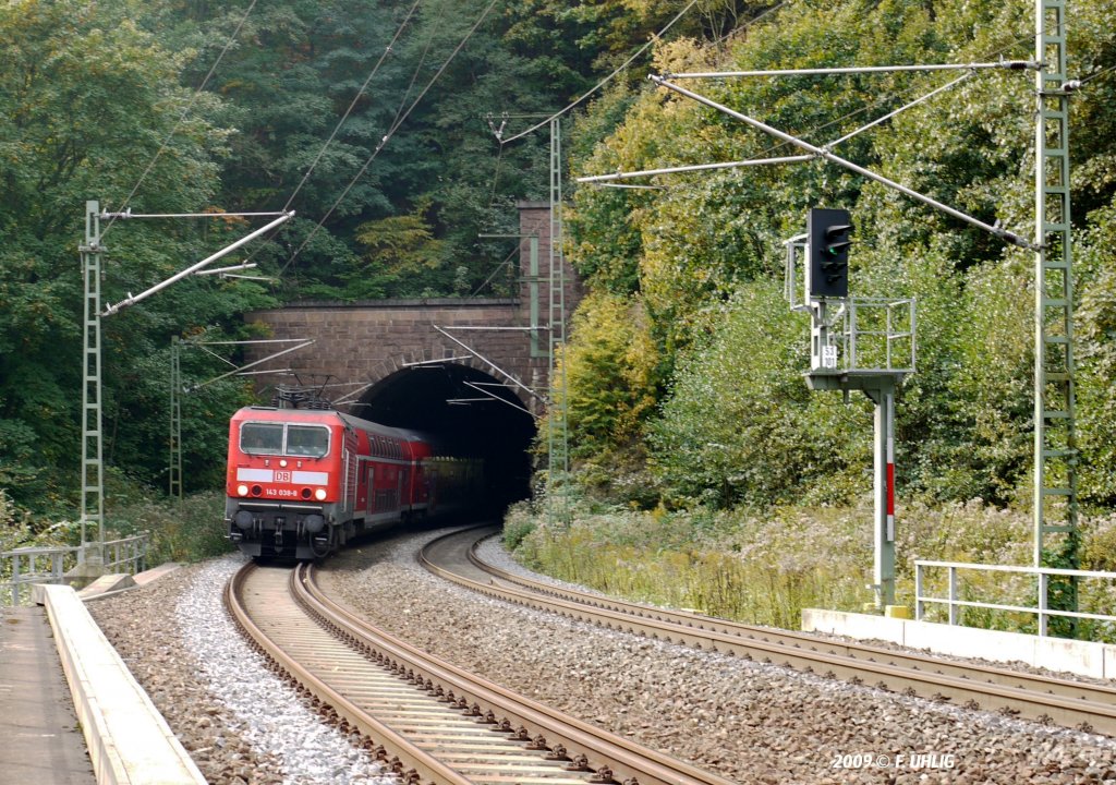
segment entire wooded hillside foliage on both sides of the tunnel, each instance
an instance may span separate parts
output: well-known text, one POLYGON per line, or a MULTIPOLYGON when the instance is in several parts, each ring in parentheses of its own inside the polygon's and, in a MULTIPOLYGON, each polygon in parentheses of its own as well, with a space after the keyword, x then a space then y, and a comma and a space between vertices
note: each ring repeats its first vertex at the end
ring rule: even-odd
MULTIPOLYGON (((506 294, 514 202, 545 199, 543 131, 501 144, 635 58, 564 126, 573 175, 772 157, 788 145, 648 70, 1032 57, 1029 0, 15 0, 0 10, 0 488, 73 516, 84 205, 297 210, 229 261, 271 284, 191 278, 104 319, 109 504, 165 486, 172 337, 253 337, 286 299, 506 294), (338 121, 345 122, 338 125, 338 121), (328 144, 327 144, 328 142, 328 144)), ((1116 9, 1074 0, 1070 76, 1081 498, 1116 504, 1116 9)), ((687 80, 764 123, 1023 236, 1033 222, 1031 75, 687 80)), ((655 509, 845 504, 870 484, 870 405, 810 393, 807 324, 781 296, 809 207, 856 222, 853 289, 918 303, 898 401, 901 494, 1029 498, 1029 253, 822 161, 567 184, 568 256, 589 296, 561 358, 571 456, 594 494, 655 509)), ((105 300, 258 222, 105 221, 105 300)), ((215 354, 231 356, 228 346, 215 354)), ((183 376, 223 373, 200 347, 183 376)), ((187 490, 220 482, 225 382, 184 399, 187 490)), ((546 442, 541 439, 540 442, 546 442)), ((18 517, 18 516, 17 516, 18 517)), ((13 518, 16 519, 16 518, 13 518)), ((23 520, 21 517, 19 520, 23 520)))

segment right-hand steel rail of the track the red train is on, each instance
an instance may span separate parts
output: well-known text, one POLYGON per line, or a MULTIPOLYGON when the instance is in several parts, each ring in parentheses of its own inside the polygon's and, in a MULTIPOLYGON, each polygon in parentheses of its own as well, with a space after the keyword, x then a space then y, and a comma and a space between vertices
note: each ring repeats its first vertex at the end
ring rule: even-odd
POLYGON ((435 695, 471 705, 474 715, 513 733, 513 738, 531 741, 535 748, 558 750, 573 756, 577 769, 595 772, 589 782, 632 782, 638 785, 730 785, 730 781, 657 750, 643 747, 574 717, 548 708, 509 689, 477 677, 444 660, 427 654, 378 630, 350 610, 328 599, 316 582, 314 567, 305 568, 299 587, 316 613, 329 619, 339 634, 352 640, 379 661, 388 661, 435 695), (500 716, 500 719, 497 717, 500 716))

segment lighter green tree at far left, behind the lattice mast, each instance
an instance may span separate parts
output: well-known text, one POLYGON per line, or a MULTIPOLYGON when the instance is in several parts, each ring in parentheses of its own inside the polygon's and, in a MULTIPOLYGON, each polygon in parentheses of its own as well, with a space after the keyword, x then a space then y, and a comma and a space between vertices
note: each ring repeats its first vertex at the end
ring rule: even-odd
MULTIPOLYGON (((35 511, 73 510, 80 454, 81 270, 85 202, 142 212, 196 211, 212 202, 228 132, 208 119, 212 96, 191 104, 172 52, 131 0, 8 3, 0 11, 0 481, 35 511), (190 112, 186 107, 190 106, 190 112), (172 133, 173 132, 173 133, 172 133), (156 155, 156 153, 158 153, 156 155), (148 169, 148 164, 150 169, 148 169)), ((104 298, 142 291, 203 256, 238 226, 117 222, 106 230, 104 298)), ((151 414, 135 382, 193 319, 228 319, 267 301, 212 280, 183 281, 104 320, 106 451, 126 473, 155 480, 160 437, 116 450, 151 414), (140 424, 137 424, 140 423, 140 424)), ((164 366, 165 367, 165 366, 164 366)), ((165 379, 165 377, 164 377, 165 379)), ((165 385, 161 400, 165 401, 165 385)), ((163 408, 161 408, 163 409, 163 408)), ((163 409, 165 411, 165 409, 163 409)), ((212 456, 200 461, 212 462, 212 456)), ((165 460, 162 471, 165 471, 165 460)))

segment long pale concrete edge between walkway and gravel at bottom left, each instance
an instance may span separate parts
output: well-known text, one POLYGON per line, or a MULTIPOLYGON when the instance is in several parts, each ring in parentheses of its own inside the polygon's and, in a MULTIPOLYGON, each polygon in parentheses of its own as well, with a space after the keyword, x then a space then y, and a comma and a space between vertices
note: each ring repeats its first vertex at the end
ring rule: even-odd
POLYGON ((97 783, 204 784, 77 593, 69 586, 44 586, 44 600, 97 783))

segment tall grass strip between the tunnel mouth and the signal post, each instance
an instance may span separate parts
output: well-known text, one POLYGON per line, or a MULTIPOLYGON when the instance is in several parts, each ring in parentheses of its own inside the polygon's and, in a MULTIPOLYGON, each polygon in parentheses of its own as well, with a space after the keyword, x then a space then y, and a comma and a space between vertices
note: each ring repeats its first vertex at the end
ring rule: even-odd
MULTIPOLYGON (((518 534, 525 511, 509 523, 518 534)), ((775 518, 615 510, 568 527, 537 525, 517 556, 556 577, 610 594, 725 619, 798 626, 809 605, 858 607, 870 600, 870 540, 834 515, 831 549, 811 545, 796 510, 775 518), (862 556, 858 558, 857 555, 862 556)))

